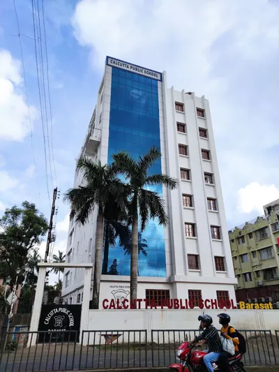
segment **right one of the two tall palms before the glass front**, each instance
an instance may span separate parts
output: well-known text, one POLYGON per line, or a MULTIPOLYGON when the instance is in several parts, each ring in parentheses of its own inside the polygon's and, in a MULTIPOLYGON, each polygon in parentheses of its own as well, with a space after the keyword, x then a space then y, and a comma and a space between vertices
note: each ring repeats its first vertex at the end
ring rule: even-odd
MULTIPOLYGON (((123 188, 126 188, 126 195, 130 195, 128 203, 129 223, 132 225, 131 255, 130 255, 130 300, 137 298, 137 267, 138 267, 138 224, 140 216, 141 230, 144 231, 149 218, 158 218, 160 225, 167 225, 167 214, 163 198, 148 189, 150 186, 164 185, 173 190, 178 181, 166 174, 149 175, 151 166, 160 158, 159 149, 152 147, 147 154, 140 156, 139 161, 135 161, 126 152, 114 154, 116 169, 121 172, 126 184, 119 187, 119 191, 114 190, 116 202, 121 203, 123 198, 123 188), (119 195, 119 197, 118 197, 119 195)), ((119 185, 117 185, 119 186, 119 185)))

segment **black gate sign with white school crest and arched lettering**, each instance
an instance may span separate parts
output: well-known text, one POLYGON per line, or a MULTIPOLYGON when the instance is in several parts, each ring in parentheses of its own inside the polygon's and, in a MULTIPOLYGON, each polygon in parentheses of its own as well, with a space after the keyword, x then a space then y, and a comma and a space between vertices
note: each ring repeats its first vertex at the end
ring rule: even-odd
POLYGON ((75 341, 76 332, 63 331, 77 331, 78 341, 81 313, 82 305, 43 305, 38 330, 50 333, 40 334, 39 341, 50 341, 50 337, 54 342, 56 338, 57 341, 75 341))

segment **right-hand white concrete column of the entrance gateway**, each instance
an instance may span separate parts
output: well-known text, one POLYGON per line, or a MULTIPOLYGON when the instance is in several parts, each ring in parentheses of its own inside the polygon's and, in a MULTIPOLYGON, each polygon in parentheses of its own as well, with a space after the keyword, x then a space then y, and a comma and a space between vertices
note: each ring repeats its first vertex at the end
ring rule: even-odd
POLYGON ((88 344, 89 334, 84 334, 82 341, 82 331, 88 329, 89 321, 89 302, 90 302, 90 288, 91 288, 91 267, 85 268, 84 286, 83 286, 83 301, 82 301, 82 316, 80 320, 80 343, 88 344))

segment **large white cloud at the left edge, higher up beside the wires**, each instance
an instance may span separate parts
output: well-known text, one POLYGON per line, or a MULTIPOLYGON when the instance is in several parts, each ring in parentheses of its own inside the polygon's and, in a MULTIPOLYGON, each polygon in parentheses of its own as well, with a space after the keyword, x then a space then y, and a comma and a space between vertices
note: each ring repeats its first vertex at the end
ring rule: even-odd
POLYGON ((0 50, 0 140, 22 141, 30 132, 37 111, 22 94, 20 61, 8 50, 0 50))

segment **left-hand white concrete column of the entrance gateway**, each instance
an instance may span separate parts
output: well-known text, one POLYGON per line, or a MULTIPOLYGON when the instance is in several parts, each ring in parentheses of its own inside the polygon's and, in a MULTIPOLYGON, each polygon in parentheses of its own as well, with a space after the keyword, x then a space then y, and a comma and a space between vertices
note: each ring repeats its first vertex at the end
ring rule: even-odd
MULTIPOLYGON (((36 295, 33 305, 33 312, 31 318, 30 332, 37 332, 40 320, 40 309, 43 302, 43 292, 45 288, 45 274, 47 272, 46 267, 39 267, 38 283, 36 287, 36 295)), ((28 338, 27 347, 36 345, 37 334, 30 334, 28 338)))

